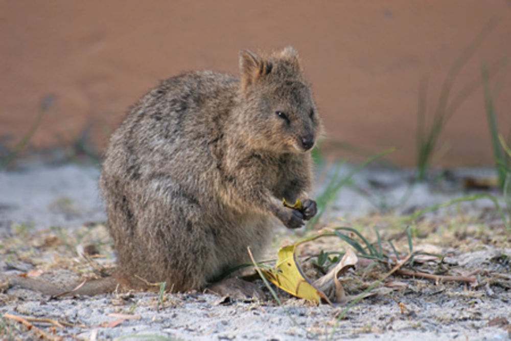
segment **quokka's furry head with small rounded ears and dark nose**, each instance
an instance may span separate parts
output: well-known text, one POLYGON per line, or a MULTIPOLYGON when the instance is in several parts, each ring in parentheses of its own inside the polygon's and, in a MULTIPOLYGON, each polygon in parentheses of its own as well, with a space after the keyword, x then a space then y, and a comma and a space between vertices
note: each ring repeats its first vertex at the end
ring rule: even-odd
POLYGON ((269 56, 241 51, 240 71, 239 109, 248 143, 280 152, 310 150, 321 121, 296 50, 287 47, 269 56))

